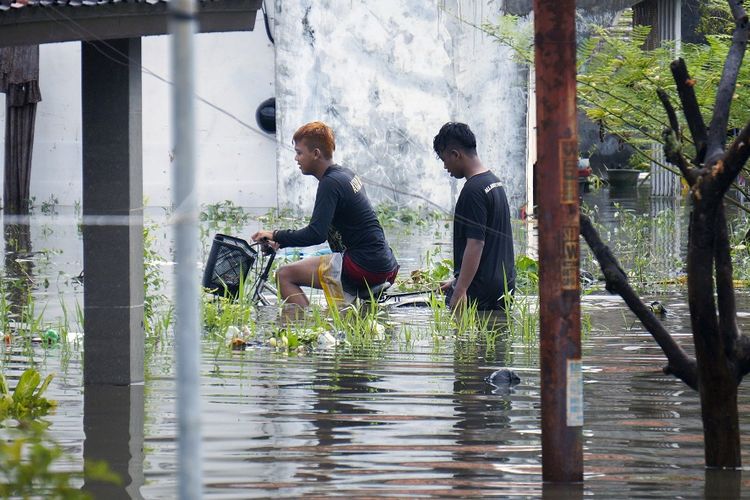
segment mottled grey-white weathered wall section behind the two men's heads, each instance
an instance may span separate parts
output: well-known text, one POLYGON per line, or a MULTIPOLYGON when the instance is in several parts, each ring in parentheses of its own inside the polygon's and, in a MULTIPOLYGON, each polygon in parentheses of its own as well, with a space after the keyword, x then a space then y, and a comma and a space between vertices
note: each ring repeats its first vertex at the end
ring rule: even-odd
POLYGON ((432 150, 449 120, 467 122, 484 163, 525 202, 527 70, 470 24, 500 1, 276 2, 279 204, 309 209, 316 183, 299 174, 296 128, 337 135, 335 159, 355 169, 374 201, 452 209, 456 184, 432 150))

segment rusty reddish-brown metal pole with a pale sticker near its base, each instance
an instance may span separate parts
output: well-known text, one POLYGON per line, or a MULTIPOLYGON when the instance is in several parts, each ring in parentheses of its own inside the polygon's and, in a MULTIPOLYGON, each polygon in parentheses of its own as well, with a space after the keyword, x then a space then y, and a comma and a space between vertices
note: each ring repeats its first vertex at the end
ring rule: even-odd
POLYGON ((534 0, 542 479, 583 481, 575 0, 534 0))

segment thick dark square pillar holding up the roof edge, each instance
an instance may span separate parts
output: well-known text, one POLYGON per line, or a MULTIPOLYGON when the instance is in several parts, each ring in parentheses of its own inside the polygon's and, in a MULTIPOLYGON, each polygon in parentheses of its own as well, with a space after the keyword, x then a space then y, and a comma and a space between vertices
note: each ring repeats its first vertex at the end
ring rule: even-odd
POLYGON ((143 381, 140 38, 82 42, 84 384, 143 381))

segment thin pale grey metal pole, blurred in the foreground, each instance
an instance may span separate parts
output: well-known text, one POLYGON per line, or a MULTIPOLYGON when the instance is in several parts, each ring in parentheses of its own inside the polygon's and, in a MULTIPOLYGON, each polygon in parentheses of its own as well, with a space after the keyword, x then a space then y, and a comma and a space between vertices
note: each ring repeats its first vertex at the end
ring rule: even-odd
POLYGON ((196 1, 169 2, 172 34, 172 186, 175 229, 178 498, 202 496, 198 199, 195 191, 196 1))

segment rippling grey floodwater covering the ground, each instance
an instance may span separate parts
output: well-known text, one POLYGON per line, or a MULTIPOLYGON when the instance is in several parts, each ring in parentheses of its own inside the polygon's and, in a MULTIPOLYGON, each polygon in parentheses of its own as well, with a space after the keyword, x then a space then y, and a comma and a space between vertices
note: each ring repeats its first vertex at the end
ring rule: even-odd
MULTIPOLYGON (((665 208, 676 208, 674 219, 642 234, 654 249, 651 267, 679 275, 687 231, 681 202, 650 200, 643 191, 610 196, 603 190, 586 199, 599 207, 613 241, 632 237, 622 232, 621 209, 651 214, 653 221, 665 208)), ((38 312, 48 304, 45 317, 72 314, 75 297, 82 303, 82 288, 72 279, 82 269, 74 220, 72 213, 32 218, 32 248, 50 251, 20 256, 25 271, 13 271, 19 256, 6 252, 6 274, 33 277, 38 312)), ((519 234, 519 248, 533 246, 533 231, 519 234)), ((444 231, 415 230, 391 239, 404 272, 419 267, 435 243, 450 248, 444 231)), ((636 257, 626 256, 623 264, 640 265, 636 257)), ((645 288, 644 300, 667 307, 667 329, 692 352, 686 291, 645 288)), ((750 298, 738 295, 740 326, 747 330, 750 298)), ((206 339, 200 377, 205 496, 741 498, 750 476, 704 469, 698 396, 662 374, 661 351, 622 300, 600 287, 583 296, 582 312, 590 325, 582 347, 582 485, 541 480, 538 348, 511 338, 502 326, 490 341, 483 335, 420 335, 420 326, 432 321, 430 310, 408 308, 391 313, 403 328, 370 349, 297 356, 266 347, 230 351, 206 339), (405 339, 406 332, 412 338, 405 339), (493 393, 483 379, 502 366, 512 367, 521 383, 493 393)), ((52 439, 67 452, 60 468, 80 470, 84 458, 106 459, 125 480, 82 487, 97 498, 174 498, 171 345, 148 347, 143 386, 85 392, 80 349, 13 346, 0 366, 9 378, 32 364, 55 373, 48 397, 58 408, 48 420, 52 439)), ((739 404, 748 436, 747 384, 739 404)), ((750 463, 747 438, 743 449, 750 463)))

